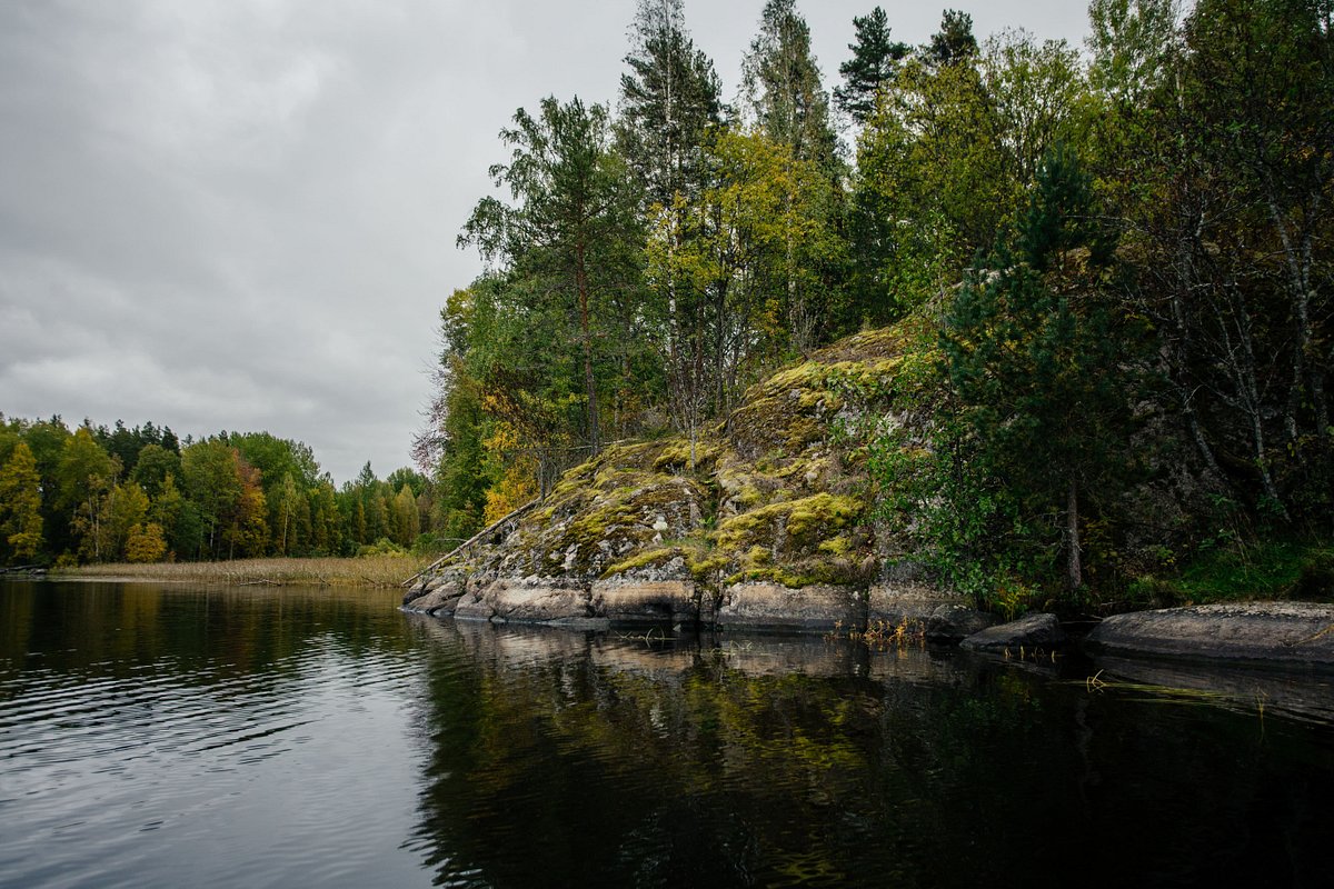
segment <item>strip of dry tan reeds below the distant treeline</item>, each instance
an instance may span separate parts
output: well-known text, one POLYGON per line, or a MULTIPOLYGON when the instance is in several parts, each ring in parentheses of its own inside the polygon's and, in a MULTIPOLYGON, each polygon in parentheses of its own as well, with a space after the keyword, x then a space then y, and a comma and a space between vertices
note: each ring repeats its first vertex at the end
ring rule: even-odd
POLYGON ((398 586, 430 564, 412 556, 360 558, 237 558, 221 562, 160 562, 152 565, 80 565, 52 572, 53 577, 181 581, 193 584, 319 586, 398 586))

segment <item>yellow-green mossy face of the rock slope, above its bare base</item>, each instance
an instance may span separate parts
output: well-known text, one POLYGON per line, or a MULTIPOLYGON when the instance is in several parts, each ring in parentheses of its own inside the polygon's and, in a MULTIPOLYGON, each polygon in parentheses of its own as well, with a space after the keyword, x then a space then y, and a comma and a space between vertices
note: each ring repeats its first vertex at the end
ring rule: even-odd
MULTIPOLYGON (((574 584, 590 590, 580 616, 600 613, 595 585, 624 585, 631 592, 615 596, 628 596, 624 608, 640 616, 656 608, 679 617, 690 610, 686 589, 704 620, 719 604, 731 608, 726 590, 750 598, 767 590, 774 608, 811 590, 824 605, 812 604, 810 614, 844 616, 830 598, 830 590, 843 590, 834 598, 852 596, 864 613, 884 557, 870 521, 860 420, 900 416, 895 392, 910 336, 903 328, 868 331, 815 352, 752 387, 742 407, 695 441, 671 436, 606 448, 566 473, 503 541, 488 540, 456 566, 492 581, 574 584), (640 608, 636 596, 663 601, 640 608)), ((512 597, 511 586, 504 590, 512 597)), ((490 598, 496 617, 523 610, 490 598)), ((488 605, 464 601, 462 612, 470 608, 488 605)), ((747 613, 732 612, 731 620, 747 613)))

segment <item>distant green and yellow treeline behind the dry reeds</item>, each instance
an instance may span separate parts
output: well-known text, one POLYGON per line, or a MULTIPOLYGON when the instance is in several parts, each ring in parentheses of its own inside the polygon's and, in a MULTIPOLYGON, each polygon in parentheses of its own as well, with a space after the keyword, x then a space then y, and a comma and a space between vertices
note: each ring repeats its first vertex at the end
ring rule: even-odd
POLYGON ((309 446, 267 432, 180 441, 0 416, 0 564, 155 562, 411 548, 430 526, 427 480, 368 462, 335 489, 309 446))

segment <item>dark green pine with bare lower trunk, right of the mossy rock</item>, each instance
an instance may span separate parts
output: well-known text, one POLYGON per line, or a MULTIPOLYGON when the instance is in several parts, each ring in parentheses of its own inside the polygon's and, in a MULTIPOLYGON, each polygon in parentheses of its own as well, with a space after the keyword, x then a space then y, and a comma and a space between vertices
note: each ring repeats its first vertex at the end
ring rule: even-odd
POLYGON ((1010 509, 984 517, 995 538, 974 542, 992 554, 1050 552, 1045 529, 1061 528, 1070 590, 1083 584, 1086 500, 1126 443, 1126 352, 1101 285, 1111 244, 1093 207, 1074 153, 1049 152, 1013 245, 960 291, 944 339, 967 470, 998 486, 987 502, 1010 509), (1019 526, 1026 540, 1013 536, 1019 526))

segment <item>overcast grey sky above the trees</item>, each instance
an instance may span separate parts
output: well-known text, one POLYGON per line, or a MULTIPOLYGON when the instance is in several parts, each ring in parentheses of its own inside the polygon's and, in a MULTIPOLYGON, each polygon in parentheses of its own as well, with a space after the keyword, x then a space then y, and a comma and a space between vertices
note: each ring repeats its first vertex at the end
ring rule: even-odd
MULTIPOLYGON (((947 0, 984 36, 1082 0, 947 0)), ((686 4, 728 97, 762 0, 686 4)), ((799 1, 826 85, 874 0, 799 1)), ((882 0, 923 43, 932 4, 882 0)), ((4 0, 0 412, 408 465, 455 236, 543 96, 611 101, 635 0, 4 0)))

